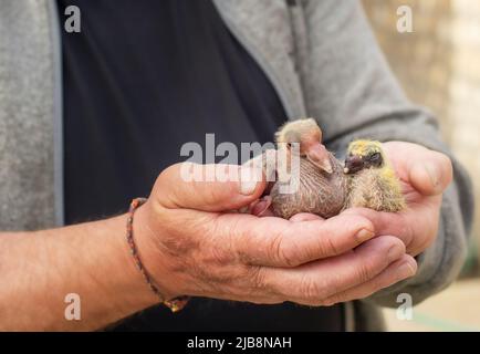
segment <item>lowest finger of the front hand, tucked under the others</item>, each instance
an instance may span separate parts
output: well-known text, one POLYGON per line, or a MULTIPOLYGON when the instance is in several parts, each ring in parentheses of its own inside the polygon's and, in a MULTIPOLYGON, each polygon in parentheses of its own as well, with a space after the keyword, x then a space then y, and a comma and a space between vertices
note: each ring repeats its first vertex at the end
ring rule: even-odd
POLYGON ((411 256, 404 254, 372 280, 330 296, 323 301, 322 305, 330 306, 338 302, 367 298, 382 289, 414 277, 416 272, 417 262, 415 259, 411 256))

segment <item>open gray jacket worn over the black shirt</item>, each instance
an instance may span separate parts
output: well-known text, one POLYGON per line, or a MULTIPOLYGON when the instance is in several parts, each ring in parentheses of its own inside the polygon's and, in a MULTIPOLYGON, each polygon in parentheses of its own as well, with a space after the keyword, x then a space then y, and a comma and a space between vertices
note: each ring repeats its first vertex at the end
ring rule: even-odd
MULTIPOLYGON (((448 154, 455 184, 444 196, 436 242, 418 273, 344 304, 348 330, 379 330, 378 305, 400 292, 418 303, 458 275, 473 201, 467 174, 435 118, 405 97, 357 1, 216 0, 237 39, 278 92, 289 118, 314 116, 330 149, 353 138, 406 140, 448 154)), ((62 61, 55 1, 0 0, 0 230, 63 225, 62 61)))

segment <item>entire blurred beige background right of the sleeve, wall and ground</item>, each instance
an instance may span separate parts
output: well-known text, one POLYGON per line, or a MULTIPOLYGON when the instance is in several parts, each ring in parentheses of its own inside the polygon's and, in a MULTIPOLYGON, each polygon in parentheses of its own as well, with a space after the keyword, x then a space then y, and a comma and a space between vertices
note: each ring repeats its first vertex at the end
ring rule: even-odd
POLYGON ((387 60, 411 101, 428 106, 470 171, 476 223, 462 280, 415 306, 401 321, 384 310, 389 331, 480 331, 480 1, 363 0, 387 60), (413 32, 397 31, 409 6, 413 32))

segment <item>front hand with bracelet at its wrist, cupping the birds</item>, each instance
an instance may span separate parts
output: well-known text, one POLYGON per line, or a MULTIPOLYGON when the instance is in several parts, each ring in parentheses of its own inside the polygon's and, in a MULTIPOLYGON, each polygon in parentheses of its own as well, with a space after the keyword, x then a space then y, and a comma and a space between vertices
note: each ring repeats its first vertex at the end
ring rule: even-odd
POLYGON ((265 183, 185 181, 181 171, 194 166, 204 176, 233 168, 167 168, 134 221, 139 256, 167 298, 325 305, 367 296, 416 271, 404 242, 373 238, 380 230, 361 214, 284 220, 232 212, 258 199, 265 183))

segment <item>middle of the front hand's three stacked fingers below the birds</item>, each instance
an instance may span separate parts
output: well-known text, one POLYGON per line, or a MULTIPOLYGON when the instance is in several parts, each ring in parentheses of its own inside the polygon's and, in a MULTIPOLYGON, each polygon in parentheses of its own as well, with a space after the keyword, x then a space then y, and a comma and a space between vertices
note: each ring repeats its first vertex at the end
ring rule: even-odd
POLYGON ((265 269, 261 274, 267 289, 275 289, 288 301, 321 305, 347 289, 367 282, 405 254, 404 243, 382 236, 338 257, 292 269, 265 269))

